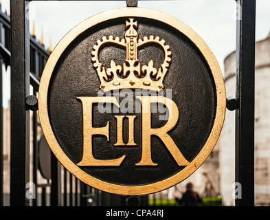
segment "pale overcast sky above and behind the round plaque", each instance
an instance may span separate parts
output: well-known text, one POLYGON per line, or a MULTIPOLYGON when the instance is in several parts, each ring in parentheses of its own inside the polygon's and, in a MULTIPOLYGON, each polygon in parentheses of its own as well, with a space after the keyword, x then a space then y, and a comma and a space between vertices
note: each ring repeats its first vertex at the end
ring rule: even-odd
MULTIPOLYGON (((9 1, 1 0, 2 10, 9 13, 9 1)), ((210 47, 224 72, 224 58, 235 50, 236 1, 175 0, 138 1, 138 6, 165 12, 190 26, 210 47)), ((45 47, 50 38, 55 47, 69 30, 94 14, 126 7, 126 1, 31 1, 30 32, 35 22, 36 38, 44 32, 45 47)), ((270 31, 270 0, 256 1, 256 41, 265 39, 270 31)))

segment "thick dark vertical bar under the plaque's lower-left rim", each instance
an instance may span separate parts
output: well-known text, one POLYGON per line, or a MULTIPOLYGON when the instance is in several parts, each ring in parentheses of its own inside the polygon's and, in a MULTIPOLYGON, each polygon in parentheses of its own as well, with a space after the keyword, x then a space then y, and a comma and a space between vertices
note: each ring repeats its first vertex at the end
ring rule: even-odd
POLYGON ((62 206, 61 164, 51 152, 51 206, 62 206))

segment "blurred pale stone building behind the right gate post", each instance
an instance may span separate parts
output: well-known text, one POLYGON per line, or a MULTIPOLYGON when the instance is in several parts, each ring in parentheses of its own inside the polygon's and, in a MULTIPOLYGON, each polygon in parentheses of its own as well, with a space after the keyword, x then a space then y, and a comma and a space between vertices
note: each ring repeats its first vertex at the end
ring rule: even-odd
MULTIPOLYGON (((255 205, 270 206, 270 34, 256 42, 255 58, 255 205)), ((236 52, 225 58, 227 97, 235 97, 236 52)), ((221 195, 226 206, 234 205, 235 111, 226 111, 218 141, 221 195)))

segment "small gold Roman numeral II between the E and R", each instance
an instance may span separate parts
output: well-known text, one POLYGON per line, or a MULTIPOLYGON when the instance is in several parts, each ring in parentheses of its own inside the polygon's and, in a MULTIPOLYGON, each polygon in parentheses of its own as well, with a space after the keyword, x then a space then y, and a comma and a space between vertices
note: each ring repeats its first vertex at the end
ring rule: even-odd
POLYGON ((117 142, 114 146, 137 146, 134 142, 134 120, 137 116, 135 115, 115 115, 117 119, 117 142), (123 118, 128 118, 128 143, 123 142, 123 118))

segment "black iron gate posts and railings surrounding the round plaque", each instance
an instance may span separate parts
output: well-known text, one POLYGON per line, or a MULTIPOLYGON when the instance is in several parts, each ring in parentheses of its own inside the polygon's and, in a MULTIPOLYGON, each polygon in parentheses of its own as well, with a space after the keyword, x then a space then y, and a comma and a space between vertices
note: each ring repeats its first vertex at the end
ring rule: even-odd
MULTIPOLYGON (((38 0, 35 0, 38 1, 38 0)), ((60 1, 60 0, 59 0, 60 1)), ((51 177, 38 183, 39 78, 49 52, 29 33, 28 0, 10 0, 10 17, 0 12, 0 64, 11 66, 10 206, 125 206, 126 197, 95 190, 73 177, 51 155, 51 177), (33 93, 30 94, 30 86, 33 93), (30 112, 31 118, 30 120, 30 112), (32 124, 30 124, 32 123, 32 124), (31 125, 31 126, 30 126, 31 125), (30 137, 32 127, 32 137, 30 137), (30 159, 30 138, 33 158, 30 159), (31 199, 27 184, 34 184, 31 199), (26 187, 25 187, 26 186, 26 187), (40 192, 40 193, 38 193, 40 192)), ((256 0, 237 0, 236 99, 227 99, 227 108, 236 109, 236 181, 242 184, 242 199, 236 206, 254 206, 254 54, 256 0), (236 103, 236 105, 234 105, 236 103)), ((137 0, 126 0, 128 6, 137 0)), ((0 68, 1 69, 1 68, 0 68)), ((0 75, 2 71, 0 70, 0 75)), ((2 78, 2 76, 0 76, 2 78)), ((2 102, 2 90, 0 97, 2 102)), ((1 122, 3 109, 0 108, 1 122)), ((0 123, 0 205, 3 206, 3 124, 0 123)), ((147 197, 139 197, 141 205, 147 197)))

